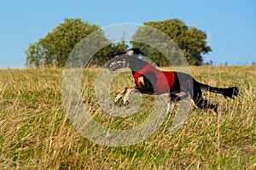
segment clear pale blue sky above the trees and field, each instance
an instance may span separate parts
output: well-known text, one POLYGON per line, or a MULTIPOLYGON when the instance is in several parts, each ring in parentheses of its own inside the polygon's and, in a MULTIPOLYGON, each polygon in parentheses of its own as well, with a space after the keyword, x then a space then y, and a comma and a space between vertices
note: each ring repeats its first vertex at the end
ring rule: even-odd
POLYGON ((101 27, 121 23, 180 19, 207 32, 213 64, 256 62, 254 0, 55 0, 3 1, 0 5, 0 68, 23 68, 26 48, 64 18, 81 18, 101 27))

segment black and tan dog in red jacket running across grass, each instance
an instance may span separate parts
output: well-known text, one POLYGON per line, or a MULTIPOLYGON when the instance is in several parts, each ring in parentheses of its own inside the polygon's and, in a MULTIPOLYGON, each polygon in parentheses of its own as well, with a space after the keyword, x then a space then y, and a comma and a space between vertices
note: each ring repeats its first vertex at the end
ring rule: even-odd
POLYGON ((217 105, 211 105, 206 99, 202 99, 201 89, 223 94, 225 98, 233 98, 237 96, 239 88, 213 88, 207 84, 197 82, 188 74, 176 71, 160 71, 148 62, 139 59, 138 56, 144 55, 140 49, 131 48, 125 53, 117 55, 108 62, 108 69, 110 71, 117 71, 124 67, 129 67, 132 71, 136 87, 123 88, 115 102, 123 97, 124 104, 127 103, 130 94, 140 92, 142 94, 165 94, 169 93, 169 102, 167 111, 172 111, 175 102, 186 97, 193 99, 195 105, 201 109, 213 109, 217 112, 217 105))

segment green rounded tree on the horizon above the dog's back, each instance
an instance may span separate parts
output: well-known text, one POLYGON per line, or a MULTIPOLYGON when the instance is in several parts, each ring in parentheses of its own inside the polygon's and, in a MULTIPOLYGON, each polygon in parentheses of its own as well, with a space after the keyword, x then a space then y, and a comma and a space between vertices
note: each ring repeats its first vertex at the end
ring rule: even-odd
MULTIPOLYGON (((188 60, 189 65, 201 65, 203 62, 201 54, 207 54, 212 49, 207 46, 207 34, 204 31, 197 29, 194 26, 186 26, 181 20, 164 20, 156 22, 145 22, 144 26, 152 26, 171 37, 177 46, 182 50, 185 58, 188 60)), ((139 28, 133 39, 137 39, 140 35, 147 35, 151 32, 145 33, 143 27, 139 28)), ((165 66, 170 65, 170 62, 163 54, 160 54, 154 48, 149 47, 139 42, 131 42, 134 48, 142 48, 145 53, 149 55, 149 59, 154 60, 157 65, 165 66)), ((166 47, 168 48, 168 47, 166 47)), ((178 62, 177 52, 172 54, 172 59, 178 62)))

